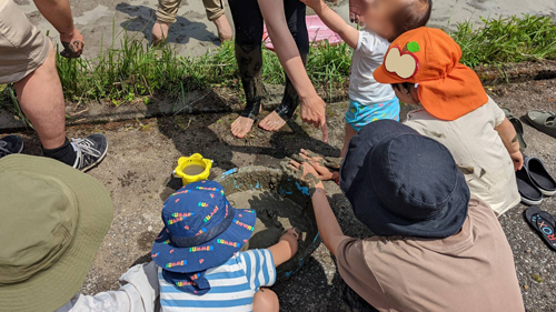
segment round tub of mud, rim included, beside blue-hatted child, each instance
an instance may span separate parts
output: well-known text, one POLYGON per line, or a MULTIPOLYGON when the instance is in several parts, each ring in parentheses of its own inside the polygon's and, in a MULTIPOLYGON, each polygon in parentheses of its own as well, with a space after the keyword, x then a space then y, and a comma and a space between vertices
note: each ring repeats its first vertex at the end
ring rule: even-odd
POLYGON ((216 179, 235 208, 257 212, 257 224, 248 249, 268 248, 291 227, 301 232, 297 253, 277 268, 278 279, 290 278, 320 244, 308 185, 279 169, 248 165, 231 169, 216 179))

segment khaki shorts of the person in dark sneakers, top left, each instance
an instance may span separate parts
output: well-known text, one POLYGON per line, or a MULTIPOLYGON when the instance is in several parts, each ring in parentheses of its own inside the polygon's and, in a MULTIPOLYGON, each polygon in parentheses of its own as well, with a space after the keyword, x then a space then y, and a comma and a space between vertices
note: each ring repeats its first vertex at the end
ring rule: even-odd
POLYGON ((39 68, 50 44, 12 0, 0 0, 0 84, 18 82, 39 68))

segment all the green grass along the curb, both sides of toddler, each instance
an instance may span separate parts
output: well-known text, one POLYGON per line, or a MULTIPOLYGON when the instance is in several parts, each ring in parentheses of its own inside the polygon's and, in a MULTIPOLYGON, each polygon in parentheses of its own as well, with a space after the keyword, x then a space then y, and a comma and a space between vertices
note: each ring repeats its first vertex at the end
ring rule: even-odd
MULTIPOLYGON (((548 17, 522 16, 483 20, 483 24, 463 22, 450 36, 463 50, 461 62, 474 68, 483 64, 556 59, 556 23, 548 17)), ((179 100, 191 90, 215 85, 242 93, 234 44, 197 58, 179 56, 170 46, 151 49, 125 32, 115 33, 112 42, 121 48, 101 47, 93 60, 58 57, 58 72, 68 101, 108 99, 115 105, 152 95, 179 100)), ((312 47, 307 72, 314 84, 331 97, 344 88, 349 77, 351 50, 346 44, 312 47)), ((266 83, 282 84, 282 68, 276 54, 264 49, 262 78, 266 83)), ((0 88, 1 89, 1 88, 0 88)), ((12 89, 0 90, 0 101, 11 105, 12 89)), ((19 105, 14 112, 22 115, 19 105)))

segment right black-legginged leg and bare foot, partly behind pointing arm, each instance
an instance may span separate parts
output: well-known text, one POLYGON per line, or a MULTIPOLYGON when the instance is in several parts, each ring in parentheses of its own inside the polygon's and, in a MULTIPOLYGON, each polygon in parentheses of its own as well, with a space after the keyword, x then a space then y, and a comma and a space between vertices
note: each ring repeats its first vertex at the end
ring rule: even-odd
MULTIPOLYGON (((306 6, 298 0, 284 0, 284 9, 286 11, 286 19, 288 20, 289 31, 296 41, 301 60, 306 66, 307 56, 309 54, 309 34, 305 22, 306 6)), ((284 90, 280 105, 259 122, 259 127, 267 131, 278 131, 286 124, 286 121, 294 115, 298 105, 299 95, 286 74, 286 89, 284 90)))

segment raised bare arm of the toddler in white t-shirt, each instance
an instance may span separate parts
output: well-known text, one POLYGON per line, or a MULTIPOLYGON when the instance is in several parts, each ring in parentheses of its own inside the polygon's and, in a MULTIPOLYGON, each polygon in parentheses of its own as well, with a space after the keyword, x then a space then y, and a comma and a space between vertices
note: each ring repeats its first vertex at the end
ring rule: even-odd
POLYGON ((338 33, 346 43, 353 49, 357 49, 359 41, 359 31, 347 24, 340 16, 332 11, 322 0, 300 0, 310 7, 325 24, 334 32, 338 33))

